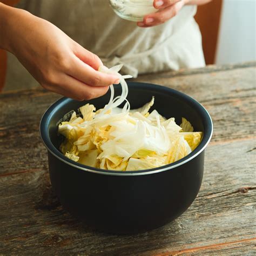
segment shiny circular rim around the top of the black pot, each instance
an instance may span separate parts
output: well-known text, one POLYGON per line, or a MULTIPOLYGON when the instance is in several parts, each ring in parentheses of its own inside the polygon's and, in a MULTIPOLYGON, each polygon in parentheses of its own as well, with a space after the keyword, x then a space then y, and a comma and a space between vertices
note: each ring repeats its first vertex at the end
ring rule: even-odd
POLYGON ((171 169, 174 169, 180 165, 186 164, 188 161, 192 160, 193 158, 197 157, 200 153, 202 153, 207 145, 210 143, 210 140, 212 138, 212 133, 213 133, 213 123, 210 114, 208 111, 205 109, 203 105, 201 105, 197 100, 193 99, 191 96, 186 95, 185 93, 179 92, 177 90, 170 89, 165 86, 161 85, 156 85, 156 84, 149 84, 149 83, 140 83, 140 82, 128 82, 127 83, 130 87, 139 87, 139 89, 153 89, 161 92, 166 93, 172 93, 180 98, 183 98, 186 100, 186 102, 189 104, 191 103, 197 109, 201 112, 201 115, 204 116, 205 118, 205 123, 207 124, 203 134, 203 139, 201 140, 200 144, 197 146, 197 148, 192 151, 190 154, 188 154, 186 157, 181 158, 178 161, 175 161, 172 164, 169 165, 164 165, 161 167, 157 167, 154 169, 147 169, 147 170, 139 170, 139 171, 114 171, 114 170, 103 170, 103 169, 98 169, 95 167, 83 165, 76 163, 75 161, 67 158, 64 156, 63 153, 61 153, 51 142, 50 137, 49 137, 49 122, 51 120, 51 117, 53 113, 56 110, 57 106, 64 105, 73 99, 62 97, 53 104, 51 104, 48 109, 44 112, 40 125, 39 125, 39 132, 41 139, 48 151, 55 156, 57 159, 62 161, 65 164, 68 164, 72 167, 75 167, 76 169, 80 169, 83 171, 87 172, 92 172, 92 173, 98 173, 98 174, 104 174, 104 175, 110 175, 110 176, 140 176, 140 175, 147 175, 147 174, 153 174, 153 173, 159 173, 159 172, 164 172, 164 171, 170 171, 171 169))

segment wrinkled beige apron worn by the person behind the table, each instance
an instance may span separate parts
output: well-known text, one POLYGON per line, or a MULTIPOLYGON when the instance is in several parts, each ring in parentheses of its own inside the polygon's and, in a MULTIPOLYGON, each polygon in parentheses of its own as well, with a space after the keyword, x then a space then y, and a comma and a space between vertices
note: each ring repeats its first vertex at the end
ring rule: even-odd
MULTIPOLYGON (((196 6, 159 26, 139 28, 114 14, 108 0, 21 0, 18 8, 47 19, 106 66, 124 64, 123 73, 138 74, 205 65, 201 35, 193 16, 196 6)), ((6 89, 37 85, 18 60, 9 54, 6 89), (22 81, 22 82, 21 82, 22 81)), ((6 90, 5 89, 5 90, 6 90)))

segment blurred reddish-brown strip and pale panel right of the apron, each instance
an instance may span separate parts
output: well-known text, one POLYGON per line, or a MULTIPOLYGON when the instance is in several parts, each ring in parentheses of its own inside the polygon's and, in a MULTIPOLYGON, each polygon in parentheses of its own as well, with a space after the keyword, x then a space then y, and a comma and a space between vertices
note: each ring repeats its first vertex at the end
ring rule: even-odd
POLYGON ((195 18, 206 64, 256 60, 255 16, 256 0, 212 0, 199 6, 195 18))

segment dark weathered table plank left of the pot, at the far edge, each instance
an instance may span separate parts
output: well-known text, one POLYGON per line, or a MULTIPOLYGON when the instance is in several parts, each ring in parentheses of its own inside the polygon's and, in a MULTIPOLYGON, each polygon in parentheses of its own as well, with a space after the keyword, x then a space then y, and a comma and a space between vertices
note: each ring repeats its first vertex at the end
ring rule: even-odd
POLYGON ((0 95, 0 177, 4 173, 46 168, 39 122, 44 111, 59 97, 41 89, 0 95))

